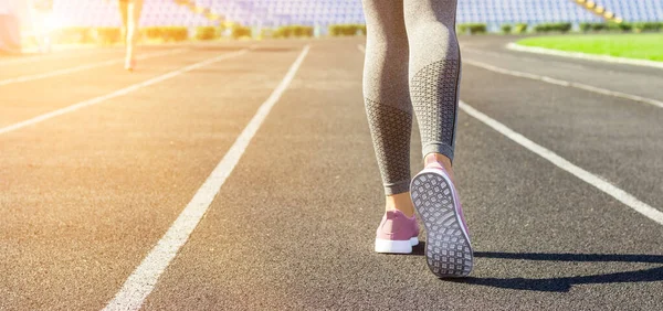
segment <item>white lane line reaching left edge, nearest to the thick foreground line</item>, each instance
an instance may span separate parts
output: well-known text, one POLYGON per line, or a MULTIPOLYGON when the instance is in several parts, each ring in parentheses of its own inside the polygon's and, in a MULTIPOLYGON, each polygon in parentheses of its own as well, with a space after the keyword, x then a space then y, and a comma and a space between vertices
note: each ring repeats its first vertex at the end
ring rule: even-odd
POLYGON ((137 84, 127 86, 125 88, 115 90, 115 92, 113 92, 110 94, 106 94, 106 95, 98 96, 98 97, 95 97, 95 98, 92 98, 92 99, 87 99, 87 100, 84 100, 84 101, 81 101, 81 103, 77 103, 77 104, 74 104, 74 105, 71 105, 71 106, 67 106, 67 107, 64 107, 64 108, 61 108, 61 109, 48 112, 48 114, 43 114, 41 116, 36 116, 36 117, 32 118, 32 119, 28 119, 28 120, 24 120, 24 121, 21 121, 21 122, 18 122, 18 124, 13 124, 13 125, 0 128, 0 135, 6 133, 6 132, 10 132, 10 131, 13 131, 13 130, 18 130, 18 129, 27 127, 27 126, 35 125, 35 124, 39 124, 41 121, 44 121, 44 120, 48 120, 48 119, 51 119, 51 118, 54 118, 54 117, 57 117, 57 116, 62 116, 64 114, 72 112, 74 110, 77 110, 77 109, 81 109, 81 108, 84 108, 84 107, 87 107, 87 106, 96 105, 96 104, 103 103, 104 100, 108 100, 108 99, 112 99, 112 98, 115 98, 115 97, 120 97, 120 96, 127 95, 127 94, 129 94, 131 92, 138 90, 140 88, 144 88, 144 87, 147 87, 147 86, 150 86, 150 85, 164 82, 164 81, 167 81, 169 78, 176 77, 176 76, 181 75, 183 73, 188 73, 190 71, 193 71, 193 69, 197 69, 197 68, 200 68, 200 67, 203 67, 203 66, 207 66, 207 65, 210 65, 210 64, 223 61, 223 60, 228 60, 228 58, 231 58, 231 57, 240 56, 242 54, 245 54, 246 52, 248 52, 248 50, 241 50, 241 51, 238 51, 238 52, 233 52, 233 53, 229 53, 229 54, 223 54, 223 55, 220 55, 220 56, 217 56, 217 57, 213 57, 213 58, 200 62, 200 63, 196 63, 193 65, 189 65, 189 66, 182 67, 182 68, 173 71, 173 72, 160 75, 158 77, 155 77, 155 78, 141 82, 141 83, 137 83, 137 84))

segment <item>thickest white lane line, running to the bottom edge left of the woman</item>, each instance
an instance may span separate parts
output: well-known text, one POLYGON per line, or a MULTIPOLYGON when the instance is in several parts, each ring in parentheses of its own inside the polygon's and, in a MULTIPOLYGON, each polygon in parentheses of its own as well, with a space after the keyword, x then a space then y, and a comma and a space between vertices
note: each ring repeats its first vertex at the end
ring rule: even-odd
POLYGON ((168 232, 159 239, 157 245, 143 259, 143 262, 127 278, 122 289, 104 310, 138 310, 147 296, 152 291, 164 270, 179 249, 187 243, 189 235, 193 232, 202 216, 207 213, 210 204, 219 193, 221 186, 232 173, 240 161, 244 150, 249 147, 251 139, 260 129, 272 107, 278 101, 287 89, 304 58, 308 54, 309 45, 306 45, 297 60, 291 65, 281 84, 272 92, 270 97, 260 106, 255 116, 249 121, 242 133, 238 137, 221 162, 204 181, 202 186, 193 195, 168 232))

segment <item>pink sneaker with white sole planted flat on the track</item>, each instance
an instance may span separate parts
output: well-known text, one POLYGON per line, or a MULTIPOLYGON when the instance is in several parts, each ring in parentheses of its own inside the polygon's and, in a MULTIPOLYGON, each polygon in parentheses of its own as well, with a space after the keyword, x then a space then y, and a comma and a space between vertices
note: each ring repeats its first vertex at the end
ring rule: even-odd
POLYGON ((417 217, 408 217, 401 211, 387 211, 376 234, 377 253, 410 254, 419 244, 417 217))

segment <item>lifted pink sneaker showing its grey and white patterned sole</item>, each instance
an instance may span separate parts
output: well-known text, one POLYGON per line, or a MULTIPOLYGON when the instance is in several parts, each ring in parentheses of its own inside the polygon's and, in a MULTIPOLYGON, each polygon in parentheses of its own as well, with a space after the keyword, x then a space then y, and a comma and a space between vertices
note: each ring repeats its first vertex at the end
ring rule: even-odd
POLYGON ((433 162, 412 179, 412 203, 425 226, 428 266, 440 278, 465 277, 474 254, 459 194, 440 163, 433 162))

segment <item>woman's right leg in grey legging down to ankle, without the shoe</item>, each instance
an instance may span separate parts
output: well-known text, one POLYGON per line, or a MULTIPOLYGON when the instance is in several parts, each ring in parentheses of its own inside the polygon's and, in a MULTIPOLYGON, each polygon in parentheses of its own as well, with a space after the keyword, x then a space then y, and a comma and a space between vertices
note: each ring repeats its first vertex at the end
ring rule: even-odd
POLYGON ((406 0, 410 43, 410 94, 419 121, 422 156, 453 175, 461 52, 456 0, 406 0), (428 156, 428 157, 427 157, 428 156))

